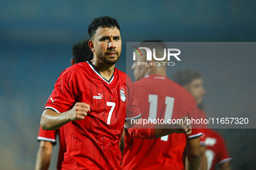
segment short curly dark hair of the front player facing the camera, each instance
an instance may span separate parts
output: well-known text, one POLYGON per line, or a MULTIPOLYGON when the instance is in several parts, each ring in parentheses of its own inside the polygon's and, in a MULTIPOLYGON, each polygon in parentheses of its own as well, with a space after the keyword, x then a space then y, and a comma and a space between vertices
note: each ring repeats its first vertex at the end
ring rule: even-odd
POLYGON ((91 24, 88 26, 88 35, 90 40, 93 38, 98 28, 115 28, 120 31, 119 24, 116 19, 111 18, 109 16, 101 16, 99 18, 95 18, 91 24))

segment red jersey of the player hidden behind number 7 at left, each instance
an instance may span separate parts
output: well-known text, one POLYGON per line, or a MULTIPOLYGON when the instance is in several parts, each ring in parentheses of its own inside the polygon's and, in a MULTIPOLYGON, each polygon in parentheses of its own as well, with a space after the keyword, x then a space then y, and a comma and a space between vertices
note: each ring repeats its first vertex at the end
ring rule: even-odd
POLYGON ((64 153, 66 151, 66 143, 64 138, 64 129, 63 126, 58 130, 43 130, 41 126, 39 127, 39 134, 37 137, 38 141, 49 141, 56 143, 56 135, 58 134, 59 139, 59 151, 58 151, 58 163, 57 170, 62 169, 62 162, 64 160, 64 153))

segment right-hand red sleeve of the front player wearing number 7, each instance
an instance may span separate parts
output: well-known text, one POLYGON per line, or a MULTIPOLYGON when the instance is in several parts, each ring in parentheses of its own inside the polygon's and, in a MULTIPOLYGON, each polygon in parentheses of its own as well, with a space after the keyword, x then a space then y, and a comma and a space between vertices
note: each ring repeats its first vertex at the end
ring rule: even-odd
POLYGON ((138 119, 141 117, 139 106, 135 99, 134 86, 129 76, 126 76, 127 102, 126 102, 126 119, 138 119))

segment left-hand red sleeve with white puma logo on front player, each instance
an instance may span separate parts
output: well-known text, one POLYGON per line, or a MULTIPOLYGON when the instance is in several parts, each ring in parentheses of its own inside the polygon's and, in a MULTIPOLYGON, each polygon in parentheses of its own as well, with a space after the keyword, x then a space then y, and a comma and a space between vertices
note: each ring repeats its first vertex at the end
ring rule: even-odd
POLYGON ((58 77, 54 90, 45 105, 45 109, 51 109, 58 113, 69 110, 78 95, 78 79, 75 67, 65 69, 58 77))

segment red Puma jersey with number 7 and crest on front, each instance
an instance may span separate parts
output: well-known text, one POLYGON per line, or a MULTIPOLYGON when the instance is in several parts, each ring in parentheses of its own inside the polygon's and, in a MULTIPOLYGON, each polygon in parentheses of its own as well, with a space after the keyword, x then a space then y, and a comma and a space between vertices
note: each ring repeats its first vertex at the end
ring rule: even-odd
POLYGON ((91 112, 84 120, 64 126, 67 151, 62 167, 121 169, 119 140, 124 122, 141 116, 130 78, 115 68, 107 81, 90 62, 68 67, 55 83, 45 109, 63 113, 76 102, 89 104, 91 112), (126 109, 126 103, 131 107, 126 109))

